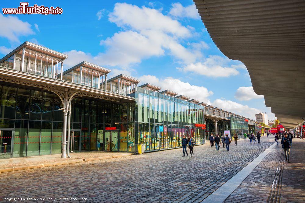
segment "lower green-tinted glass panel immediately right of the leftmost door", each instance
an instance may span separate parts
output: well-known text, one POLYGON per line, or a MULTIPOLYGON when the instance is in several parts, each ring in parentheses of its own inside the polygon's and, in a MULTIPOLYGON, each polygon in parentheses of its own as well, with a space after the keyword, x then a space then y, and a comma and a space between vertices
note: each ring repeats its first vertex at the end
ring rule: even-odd
POLYGON ((27 156, 27 127, 28 121, 16 120, 13 145, 13 158, 27 156))

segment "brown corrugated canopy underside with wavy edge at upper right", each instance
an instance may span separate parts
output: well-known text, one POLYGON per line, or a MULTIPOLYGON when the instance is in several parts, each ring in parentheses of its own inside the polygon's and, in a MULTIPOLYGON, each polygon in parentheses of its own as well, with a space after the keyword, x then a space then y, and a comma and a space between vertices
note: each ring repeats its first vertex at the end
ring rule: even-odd
POLYGON ((194 0, 220 51, 242 61, 284 127, 305 116, 305 1, 194 0))

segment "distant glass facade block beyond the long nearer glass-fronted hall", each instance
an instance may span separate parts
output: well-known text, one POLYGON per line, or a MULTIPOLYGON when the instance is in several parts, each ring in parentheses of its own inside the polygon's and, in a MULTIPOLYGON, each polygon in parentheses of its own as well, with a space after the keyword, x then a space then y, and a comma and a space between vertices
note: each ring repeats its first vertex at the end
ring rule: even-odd
POLYGON ((248 121, 245 121, 245 119, 231 116, 230 122, 231 122, 231 137, 233 137, 234 134, 237 134, 238 138, 242 139, 244 138, 244 134, 249 132, 248 121))

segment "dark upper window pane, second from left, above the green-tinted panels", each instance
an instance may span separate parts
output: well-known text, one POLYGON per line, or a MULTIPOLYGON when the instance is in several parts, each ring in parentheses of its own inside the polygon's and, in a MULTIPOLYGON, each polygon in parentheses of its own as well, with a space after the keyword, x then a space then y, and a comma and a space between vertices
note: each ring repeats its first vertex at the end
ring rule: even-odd
POLYGON ((16 118, 29 119, 30 90, 18 88, 16 118))

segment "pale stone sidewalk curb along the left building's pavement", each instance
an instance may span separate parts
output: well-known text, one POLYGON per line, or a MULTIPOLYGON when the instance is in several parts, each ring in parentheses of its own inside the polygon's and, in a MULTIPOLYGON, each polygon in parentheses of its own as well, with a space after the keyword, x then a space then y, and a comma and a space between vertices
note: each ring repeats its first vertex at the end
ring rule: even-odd
POLYGON ((56 161, 56 162, 48 162, 48 163, 41 163, 41 164, 34 164, 34 165, 27 165, 27 166, 16 166, 16 167, 0 169, 0 173, 34 169, 34 168, 43 168, 43 167, 48 167, 48 166, 59 166, 59 165, 66 165, 66 164, 71 164, 71 163, 96 161, 96 160, 102 160, 102 159, 113 159, 113 158, 119 158, 119 157, 124 157, 124 156, 131 156, 131 155, 134 155, 134 154, 122 154, 122 155, 118 154, 118 155, 112 155, 112 156, 93 157, 93 158, 88 158, 88 159, 76 159, 76 160, 56 161))

